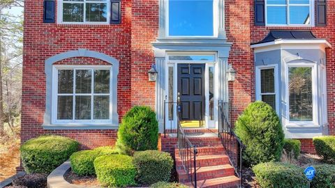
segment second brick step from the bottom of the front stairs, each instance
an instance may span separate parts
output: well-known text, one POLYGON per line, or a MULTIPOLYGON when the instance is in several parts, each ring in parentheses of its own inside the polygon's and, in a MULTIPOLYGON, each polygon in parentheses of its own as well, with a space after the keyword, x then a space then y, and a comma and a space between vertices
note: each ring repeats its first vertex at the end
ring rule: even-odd
MULTIPOLYGON (((188 175, 184 169, 177 169, 179 182, 188 182, 188 175)), ((207 180, 234 175, 234 168, 230 164, 218 166, 197 167, 197 180, 207 180)))

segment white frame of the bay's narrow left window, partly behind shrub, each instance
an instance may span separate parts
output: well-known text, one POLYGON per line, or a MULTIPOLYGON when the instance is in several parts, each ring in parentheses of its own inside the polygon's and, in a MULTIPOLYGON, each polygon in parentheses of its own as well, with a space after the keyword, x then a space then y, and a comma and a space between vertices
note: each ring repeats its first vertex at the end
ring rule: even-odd
POLYGON ((276 102, 276 113, 279 114, 279 86, 278 86, 278 65, 259 65, 256 66, 256 100, 262 101, 262 95, 274 95, 275 102, 276 102), (267 69, 274 69, 274 93, 262 93, 261 90, 261 79, 260 79, 260 71, 267 70, 267 69))

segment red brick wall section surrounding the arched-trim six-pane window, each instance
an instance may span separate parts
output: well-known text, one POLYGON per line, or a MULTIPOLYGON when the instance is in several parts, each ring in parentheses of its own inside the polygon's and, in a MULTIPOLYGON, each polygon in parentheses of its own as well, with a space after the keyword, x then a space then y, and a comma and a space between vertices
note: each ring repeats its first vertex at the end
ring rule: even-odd
MULTIPOLYGON (((43 24, 43 0, 24 2, 24 56, 22 79, 22 142, 40 134, 77 139, 82 148, 114 145, 115 130, 43 130, 45 113, 45 59, 75 49, 90 49, 119 60, 117 89, 120 118, 131 108, 132 2, 123 0, 122 22, 114 25, 43 24)), ((96 65, 94 58, 71 58, 65 64, 96 65)))

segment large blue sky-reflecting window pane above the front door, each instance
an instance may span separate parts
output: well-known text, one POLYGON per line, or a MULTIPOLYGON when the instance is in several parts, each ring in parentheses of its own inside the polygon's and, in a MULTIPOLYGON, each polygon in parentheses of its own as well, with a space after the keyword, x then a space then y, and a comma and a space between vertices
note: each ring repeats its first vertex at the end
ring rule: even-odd
POLYGON ((170 0, 170 36, 213 36, 213 0, 170 0))

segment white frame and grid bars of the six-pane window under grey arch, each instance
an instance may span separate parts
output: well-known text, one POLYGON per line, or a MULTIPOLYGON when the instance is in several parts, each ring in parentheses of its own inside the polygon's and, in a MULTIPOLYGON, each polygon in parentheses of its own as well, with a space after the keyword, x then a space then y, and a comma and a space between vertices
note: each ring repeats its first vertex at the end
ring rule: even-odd
MULTIPOLYGON (((54 65, 52 67, 52 124, 54 125, 110 125, 112 124, 112 66, 110 65, 54 65), (91 110, 91 120, 75 120, 75 101, 73 101, 73 119, 72 120, 58 120, 57 112, 58 112, 58 70, 74 70, 73 74, 75 75, 75 70, 110 70, 110 93, 101 93, 94 94, 94 89, 91 89, 91 93, 89 94, 80 94, 80 95, 88 95, 91 96, 91 109, 93 109, 94 105, 94 95, 107 95, 110 97, 110 118, 97 120, 93 119, 93 110, 91 110)), ((94 72, 92 72, 91 84, 94 84, 94 72)), ((73 77, 73 88, 75 89, 75 77, 73 77)), ((75 95, 75 92, 69 94, 61 94, 61 95, 75 95)))

